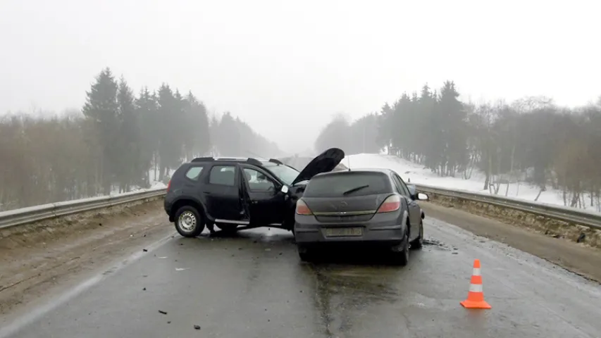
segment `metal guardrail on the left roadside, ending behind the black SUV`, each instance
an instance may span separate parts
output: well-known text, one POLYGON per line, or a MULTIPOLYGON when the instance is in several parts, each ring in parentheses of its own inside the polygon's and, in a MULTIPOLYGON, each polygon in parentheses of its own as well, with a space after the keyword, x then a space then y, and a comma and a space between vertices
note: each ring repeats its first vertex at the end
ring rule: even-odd
POLYGON ((144 189, 142 191, 128 192, 114 196, 92 197, 90 199, 78 199, 75 201, 42 204, 40 206, 3 211, 0 212, 0 229, 74 213, 109 208, 135 201, 143 201, 163 196, 164 194, 166 194, 166 188, 144 189))

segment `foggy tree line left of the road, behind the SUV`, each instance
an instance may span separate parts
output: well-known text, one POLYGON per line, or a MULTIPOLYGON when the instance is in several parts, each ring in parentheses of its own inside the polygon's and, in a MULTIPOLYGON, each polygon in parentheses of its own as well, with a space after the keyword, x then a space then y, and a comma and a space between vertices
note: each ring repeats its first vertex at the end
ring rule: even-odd
POLYGON ((136 95, 101 70, 80 110, 0 118, 0 211, 166 182, 197 156, 282 156, 277 144, 226 112, 209 117, 169 84, 136 95))

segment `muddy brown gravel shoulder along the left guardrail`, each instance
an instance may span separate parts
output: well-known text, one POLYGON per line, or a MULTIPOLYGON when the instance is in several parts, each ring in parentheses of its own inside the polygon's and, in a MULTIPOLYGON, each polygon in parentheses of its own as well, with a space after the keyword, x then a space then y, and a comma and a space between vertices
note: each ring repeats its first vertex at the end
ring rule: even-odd
POLYGON ((173 234, 162 201, 38 224, 0 237, 0 327, 49 294, 173 234))

